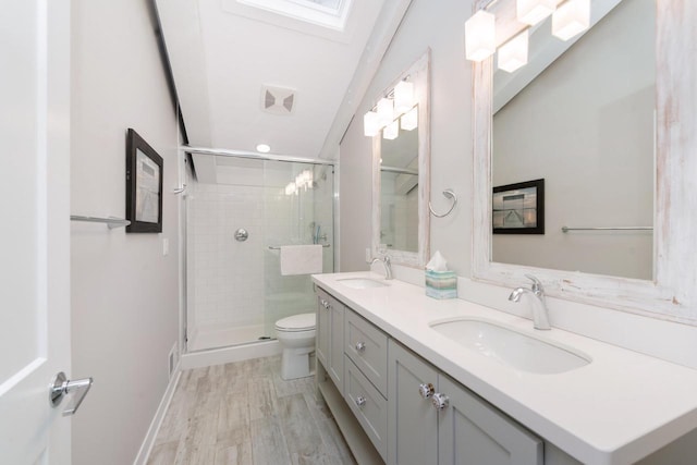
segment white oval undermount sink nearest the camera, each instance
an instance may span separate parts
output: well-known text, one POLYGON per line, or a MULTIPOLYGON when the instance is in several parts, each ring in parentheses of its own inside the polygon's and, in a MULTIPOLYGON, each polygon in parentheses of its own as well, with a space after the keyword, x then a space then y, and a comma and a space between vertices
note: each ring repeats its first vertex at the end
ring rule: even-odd
POLYGON ((513 368, 560 374, 580 368, 590 357, 517 330, 480 319, 432 321, 429 326, 458 344, 513 368))

